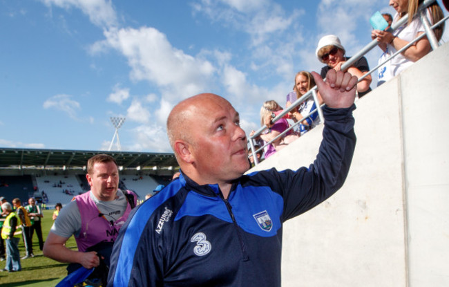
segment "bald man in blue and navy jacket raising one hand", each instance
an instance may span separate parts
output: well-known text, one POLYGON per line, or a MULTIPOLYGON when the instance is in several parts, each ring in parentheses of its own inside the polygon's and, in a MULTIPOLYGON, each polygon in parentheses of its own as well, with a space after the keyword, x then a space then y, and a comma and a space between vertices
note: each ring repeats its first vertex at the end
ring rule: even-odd
POLYGON ((357 79, 314 73, 325 101, 323 142, 309 168, 249 169, 238 112, 211 93, 167 120, 181 175, 130 215, 115 241, 108 286, 280 286, 283 222, 325 201, 355 147, 357 79))

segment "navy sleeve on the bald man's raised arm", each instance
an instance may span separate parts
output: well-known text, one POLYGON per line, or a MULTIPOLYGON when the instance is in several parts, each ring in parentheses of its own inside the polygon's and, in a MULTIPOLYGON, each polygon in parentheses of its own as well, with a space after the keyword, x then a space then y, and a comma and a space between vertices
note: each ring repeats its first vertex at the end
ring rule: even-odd
POLYGON ((323 140, 314 163, 296 172, 278 173, 284 198, 283 221, 322 203, 345 182, 356 145, 354 109, 354 104, 347 109, 325 107, 323 140))

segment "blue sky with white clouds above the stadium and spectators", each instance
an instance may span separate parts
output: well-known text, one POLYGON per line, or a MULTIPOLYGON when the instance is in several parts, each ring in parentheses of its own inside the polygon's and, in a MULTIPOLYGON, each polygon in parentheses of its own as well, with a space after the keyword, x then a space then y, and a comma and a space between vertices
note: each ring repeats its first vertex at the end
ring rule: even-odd
POLYGON ((320 37, 352 55, 377 10, 394 15, 388 0, 0 0, 0 147, 107 150, 109 118, 126 117, 122 150, 171 152, 169 111, 202 92, 249 134, 296 72, 320 71, 320 37))

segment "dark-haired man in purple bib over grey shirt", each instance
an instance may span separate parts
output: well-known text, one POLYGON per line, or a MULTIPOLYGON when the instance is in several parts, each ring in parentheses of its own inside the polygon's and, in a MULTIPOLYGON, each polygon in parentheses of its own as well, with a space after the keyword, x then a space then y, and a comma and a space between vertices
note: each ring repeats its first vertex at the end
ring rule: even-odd
POLYGON ((135 207, 137 196, 118 189, 119 171, 112 156, 97 154, 88 160, 86 178, 90 192, 75 196, 61 209, 44 244, 44 256, 69 265, 97 267, 100 257, 109 265, 112 245, 118 231, 135 207), (66 248, 75 236, 78 251, 66 248))

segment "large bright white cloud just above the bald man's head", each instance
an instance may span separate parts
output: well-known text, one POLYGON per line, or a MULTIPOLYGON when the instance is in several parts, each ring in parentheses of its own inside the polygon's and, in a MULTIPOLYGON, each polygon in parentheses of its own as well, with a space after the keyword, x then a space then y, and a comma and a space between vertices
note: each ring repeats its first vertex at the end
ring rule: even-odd
POLYGON ((105 32, 106 39, 91 48, 99 52, 106 47, 122 53, 131 66, 133 80, 148 80, 171 100, 187 98, 205 90, 216 68, 200 57, 187 55, 171 46, 166 36, 155 28, 123 28, 105 32))

